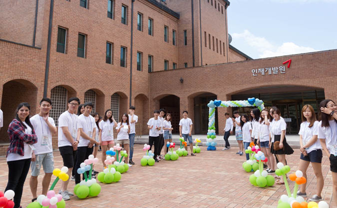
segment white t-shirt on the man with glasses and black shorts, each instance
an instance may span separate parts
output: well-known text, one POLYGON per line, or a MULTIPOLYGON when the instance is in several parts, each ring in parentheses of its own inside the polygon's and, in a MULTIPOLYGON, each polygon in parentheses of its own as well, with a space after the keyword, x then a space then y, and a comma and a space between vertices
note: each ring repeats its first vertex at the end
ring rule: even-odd
POLYGON ((69 111, 64 111, 58 117, 58 147, 61 146, 71 146, 70 141, 68 141, 67 137, 63 133, 61 127, 68 127, 70 135, 74 140, 76 140, 77 130, 78 130, 78 116, 75 114, 71 114, 69 111))

